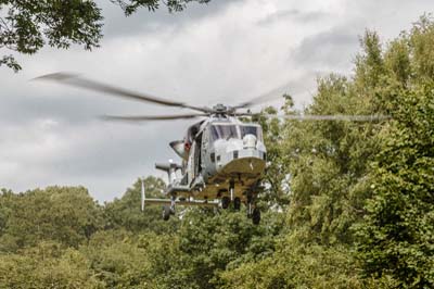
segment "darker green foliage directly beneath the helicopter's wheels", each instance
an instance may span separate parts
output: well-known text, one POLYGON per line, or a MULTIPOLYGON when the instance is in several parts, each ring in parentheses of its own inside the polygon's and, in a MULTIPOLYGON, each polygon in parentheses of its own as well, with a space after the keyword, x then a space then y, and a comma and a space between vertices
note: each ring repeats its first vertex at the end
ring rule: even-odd
POLYGON ((188 212, 179 238, 186 264, 183 274, 192 279, 190 286, 216 288, 220 284, 219 273, 270 255, 282 227, 280 215, 266 214, 266 225, 255 226, 245 213, 188 212))

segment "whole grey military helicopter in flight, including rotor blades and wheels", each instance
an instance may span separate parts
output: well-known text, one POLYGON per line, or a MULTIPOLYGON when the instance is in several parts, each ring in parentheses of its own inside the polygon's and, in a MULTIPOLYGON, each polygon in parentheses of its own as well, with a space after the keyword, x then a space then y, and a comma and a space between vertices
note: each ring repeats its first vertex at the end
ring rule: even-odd
MULTIPOLYGON (((182 102, 161 99, 146 93, 137 93, 111 85, 90 80, 71 73, 43 75, 39 80, 51 80, 64 85, 89 89, 116 97, 139 100, 166 106, 196 111, 174 115, 105 115, 104 120, 123 122, 175 121, 202 118, 192 124, 183 139, 169 143, 179 155, 180 163, 155 164, 168 175, 165 196, 168 199, 148 199, 142 181, 141 208, 145 204, 163 204, 163 218, 175 214, 176 205, 199 205, 228 209, 232 203, 239 211, 246 205, 247 216, 254 224, 260 222, 256 205, 260 190, 260 178, 266 168, 267 149, 260 125, 241 122, 241 116, 253 116, 247 108, 270 99, 270 93, 229 106, 221 103, 208 106, 189 105, 182 102)), ((263 115, 299 121, 356 121, 369 122, 387 118, 381 115, 263 115)))

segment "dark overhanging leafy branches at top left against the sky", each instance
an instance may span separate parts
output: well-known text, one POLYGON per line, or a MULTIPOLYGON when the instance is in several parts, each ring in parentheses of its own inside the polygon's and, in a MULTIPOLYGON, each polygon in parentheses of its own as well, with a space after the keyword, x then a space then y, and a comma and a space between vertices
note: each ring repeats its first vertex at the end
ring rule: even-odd
MULTIPOLYGON (((140 8, 155 11, 161 3, 170 12, 182 11, 192 1, 207 3, 209 0, 111 0, 126 15, 140 8)), ((0 0, 0 50, 34 54, 46 45, 61 49, 80 45, 92 50, 100 46, 102 26, 101 9, 92 0, 0 0)), ((3 55, 1 65, 15 72, 22 70, 12 54, 3 55)))

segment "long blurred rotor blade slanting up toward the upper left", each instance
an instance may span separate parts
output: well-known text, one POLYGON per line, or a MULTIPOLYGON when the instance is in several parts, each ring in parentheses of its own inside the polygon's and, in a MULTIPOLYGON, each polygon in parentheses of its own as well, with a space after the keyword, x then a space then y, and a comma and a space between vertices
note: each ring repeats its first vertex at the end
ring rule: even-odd
POLYGON ((201 111, 201 112, 209 112, 210 111, 207 108, 192 106, 192 105, 188 105, 182 102, 165 100, 165 99, 153 97, 153 96, 146 95, 146 93, 137 93, 133 91, 126 90, 124 88, 118 88, 118 87, 115 87, 112 85, 90 80, 90 79, 80 77, 76 74, 72 74, 72 73, 47 74, 47 75, 42 75, 42 76, 39 76, 34 79, 35 80, 55 81, 55 83, 69 85, 69 86, 74 86, 74 87, 79 87, 79 88, 85 88, 85 89, 89 89, 89 90, 93 90, 93 91, 98 91, 98 92, 108 93, 108 95, 112 95, 115 97, 123 97, 123 98, 129 98, 129 99, 139 100, 139 101, 152 102, 152 103, 166 105, 166 106, 178 106, 178 108, 191 109, 191 110, 201 111))

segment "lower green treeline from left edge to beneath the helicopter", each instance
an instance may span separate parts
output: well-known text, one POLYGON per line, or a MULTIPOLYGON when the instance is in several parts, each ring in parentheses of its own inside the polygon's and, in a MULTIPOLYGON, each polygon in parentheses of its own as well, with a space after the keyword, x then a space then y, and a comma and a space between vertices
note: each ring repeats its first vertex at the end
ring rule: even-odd
MULTIPOLYGON (((145 179, 146 194, 164 183, 145 179)), ((265 214, 186 210, 162 219, 140 211, 140 181, 99 205, 85 188, 0 196, 0 288, 213 288, 228 266, 275 251, 282 222, 265 214), (278 223, 280 222, 280 223, 278 223)))

